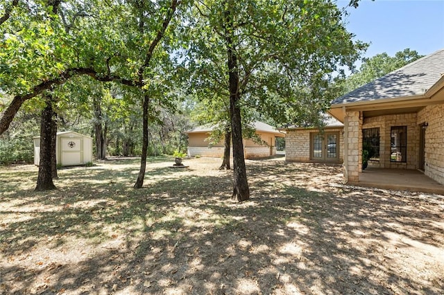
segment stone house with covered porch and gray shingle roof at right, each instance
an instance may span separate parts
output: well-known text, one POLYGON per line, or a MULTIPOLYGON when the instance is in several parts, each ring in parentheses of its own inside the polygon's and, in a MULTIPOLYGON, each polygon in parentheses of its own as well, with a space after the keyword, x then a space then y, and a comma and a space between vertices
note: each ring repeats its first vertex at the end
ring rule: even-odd
POLYGON ((420 170, 444 184, 444 49, 336 98, 329 112, 344 125, 348 182, 359 182, 370 147, 370 167, 420 170))

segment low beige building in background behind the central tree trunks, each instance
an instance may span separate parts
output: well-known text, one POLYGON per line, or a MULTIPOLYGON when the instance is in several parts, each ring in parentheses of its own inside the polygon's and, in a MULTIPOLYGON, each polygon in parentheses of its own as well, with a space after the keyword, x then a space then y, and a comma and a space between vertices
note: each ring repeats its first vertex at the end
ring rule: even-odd
MULTIPOLYGON (((188 133, 188 156, 201 157, 223 157, 223 141, 216 145, 210 145, 208 136, 210 136, 213 126, 204 125, 189 130, 188 133)), ((255 143, 251 139, 244 139, 245 159, 264 158, 276 154, 275 141, 277 137, 284 137, 285 134, 279 132, 274 127, 255 122, 256 134, 262 139, 263 144, 255 143)), ((232 151, 230 152, 232 155, 232 151)))

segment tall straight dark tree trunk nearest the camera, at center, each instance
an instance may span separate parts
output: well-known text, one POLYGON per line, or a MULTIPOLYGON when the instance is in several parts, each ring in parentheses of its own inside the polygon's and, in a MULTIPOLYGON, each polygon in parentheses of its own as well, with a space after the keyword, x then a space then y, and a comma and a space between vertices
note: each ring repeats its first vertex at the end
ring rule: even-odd
MULTIPOLYGON (((229 7, 228 7, 229 8, 229 7)), ((232 42, 232 15, 230 10, 225 10, 225 39, 227 42, 227 64, 228 64, 228 81, 230 87, 230 118, 233 145, 233 194, 232 199, 242 202, 250 198, 250 188, 248 188, 248 180, 244 159, 244 143, 242 143, 242 123, 241 109, 239 107, 239 67, 237 61, 237 53, 234 51, 232 42)))

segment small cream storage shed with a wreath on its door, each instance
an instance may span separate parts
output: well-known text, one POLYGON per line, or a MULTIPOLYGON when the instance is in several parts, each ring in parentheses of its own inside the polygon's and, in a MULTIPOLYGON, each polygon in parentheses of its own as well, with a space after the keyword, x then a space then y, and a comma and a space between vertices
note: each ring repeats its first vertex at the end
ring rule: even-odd
MULTIPOLYGON (((34 136, 34 164, 40 163, 40 136, 34 136)), ((83 134, 57 132, 56 160, 60 166, 85 165, 92 162, 92 138, 83 134)))

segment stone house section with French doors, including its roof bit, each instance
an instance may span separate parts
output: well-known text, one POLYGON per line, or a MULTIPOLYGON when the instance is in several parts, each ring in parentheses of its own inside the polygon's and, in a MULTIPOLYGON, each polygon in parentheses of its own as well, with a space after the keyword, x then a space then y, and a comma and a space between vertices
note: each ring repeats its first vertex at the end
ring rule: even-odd
POLYGON ((285 129, 285 161, 342 163, 343 123, 331 116, 325 127, 288 127, 285 129))

